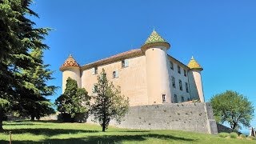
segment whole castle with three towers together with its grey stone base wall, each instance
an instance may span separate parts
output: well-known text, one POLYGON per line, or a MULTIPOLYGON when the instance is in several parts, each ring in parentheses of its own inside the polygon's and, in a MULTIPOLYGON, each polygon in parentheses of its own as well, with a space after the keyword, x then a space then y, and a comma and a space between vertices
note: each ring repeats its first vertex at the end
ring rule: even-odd
MULTIPOLYGON (((202 66, 192 57, 188 65, 167 54, 170 43, 155 30, 140 49, 116 54, 79 66, 70 55, 60 67, 62 92, 66 79, 73 78, 89 95, 94 93, 97 76, 106 77, 130 100, 123 121, 112 126, 143 130, 187 130, 218 134, 210 103, 204 102, 202 66), (198 102, 188 102, 198 100, 198 102)), ((94 123, 93 116, 85 122, 94 123)), ((79 121, 80 122, 80 121, 79 121)))

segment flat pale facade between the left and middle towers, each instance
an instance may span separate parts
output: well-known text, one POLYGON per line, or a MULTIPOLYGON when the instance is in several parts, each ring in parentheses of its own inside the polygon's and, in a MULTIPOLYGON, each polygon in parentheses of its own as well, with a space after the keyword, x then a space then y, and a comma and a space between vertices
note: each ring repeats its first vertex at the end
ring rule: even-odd
MULTIPOLYGON (((114 86, 120 86, 121 92, 130 99, 130 106, 147 105, 146 88, 146 57, 140 56, 128 59, 129 66, 122 68, 122 62, 113 62, 98 66, 98 74, 102 69, 106 71, 106 77, 114 86), (118 78, 113 78, 113 71, 118 71, 118 78)), ((98 74, 93 75, 92 70, 82 71, 82 87, 86 88, 89 95, 93 95, 93 86, 98 82, 98 74)))

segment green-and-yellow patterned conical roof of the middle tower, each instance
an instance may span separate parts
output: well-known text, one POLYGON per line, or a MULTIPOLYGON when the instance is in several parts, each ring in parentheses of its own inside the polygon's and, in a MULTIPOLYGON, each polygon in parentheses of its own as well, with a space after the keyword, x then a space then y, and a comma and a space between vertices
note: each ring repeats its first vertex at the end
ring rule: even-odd
POLYGON ((150 37, 146 39, 146 42, 142 46, 142 50, 146 50, 150 46, 165 46, 166 49, 170 48, 170 44, 166 42, 164 38, 162 38, 155 30, 152 31, 150 37))

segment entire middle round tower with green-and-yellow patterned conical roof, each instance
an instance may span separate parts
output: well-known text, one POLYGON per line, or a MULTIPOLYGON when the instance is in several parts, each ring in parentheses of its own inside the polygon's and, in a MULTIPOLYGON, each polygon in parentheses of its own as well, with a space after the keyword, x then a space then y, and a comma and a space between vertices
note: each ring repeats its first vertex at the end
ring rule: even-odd
POLYGON ((170 62, 166 50, 170 44, 155 30, 141 47, 146 55, 148 104, 170 103, 170 62))

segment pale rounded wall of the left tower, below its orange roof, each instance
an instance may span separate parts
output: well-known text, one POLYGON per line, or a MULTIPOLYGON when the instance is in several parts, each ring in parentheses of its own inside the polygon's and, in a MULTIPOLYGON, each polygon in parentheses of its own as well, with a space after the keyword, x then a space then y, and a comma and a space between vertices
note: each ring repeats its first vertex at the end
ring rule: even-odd
POLYGON ((72 78, 78 82, 78 87, 81 87, 80 69, 78 67, 70 67, 62 72, 62 93, 66 89, 66 79, 72 78))

